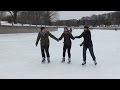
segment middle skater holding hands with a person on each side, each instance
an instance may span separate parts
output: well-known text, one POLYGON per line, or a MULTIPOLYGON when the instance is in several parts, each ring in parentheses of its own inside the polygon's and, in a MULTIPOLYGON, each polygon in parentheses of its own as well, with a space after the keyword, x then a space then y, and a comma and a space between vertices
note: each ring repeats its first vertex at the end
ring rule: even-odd
POLYGON ((59 40, 61 40, 64 37, 64 46, 63 46, 63 59, 62 59, 62 63, 65 62, 65 53, 66 50, 68 51, 68 63, 71 63, 71 39, 75 39, 73 37, 73 35, 69 32, 68 28, 65 27, 64 28, 64 32, 62 33, 61 37, 59 38, 59 40))

